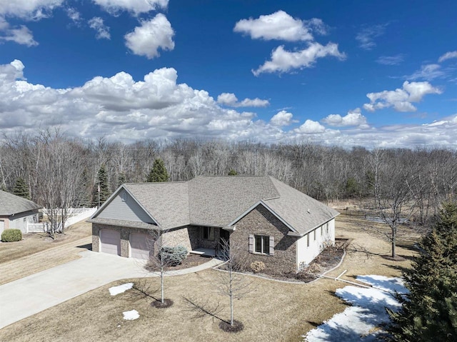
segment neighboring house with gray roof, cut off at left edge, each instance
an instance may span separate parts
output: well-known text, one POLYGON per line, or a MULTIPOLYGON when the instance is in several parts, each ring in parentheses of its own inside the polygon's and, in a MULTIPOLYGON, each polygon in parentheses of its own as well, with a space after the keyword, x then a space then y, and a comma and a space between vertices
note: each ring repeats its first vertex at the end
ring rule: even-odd
POLYGON ((38 223, 38 204, 0 190, 0 233, 4 229, 20 229, 27 233, 28 223, 38 223))

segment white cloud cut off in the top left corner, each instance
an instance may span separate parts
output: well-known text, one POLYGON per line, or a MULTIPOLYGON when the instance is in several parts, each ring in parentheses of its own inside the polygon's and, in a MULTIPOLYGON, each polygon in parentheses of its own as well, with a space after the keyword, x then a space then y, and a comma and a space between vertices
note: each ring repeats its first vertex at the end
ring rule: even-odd
POLYGON ((64 0, 0 1, 0 16, 16 16, 26 20, 46 18, 64 0))

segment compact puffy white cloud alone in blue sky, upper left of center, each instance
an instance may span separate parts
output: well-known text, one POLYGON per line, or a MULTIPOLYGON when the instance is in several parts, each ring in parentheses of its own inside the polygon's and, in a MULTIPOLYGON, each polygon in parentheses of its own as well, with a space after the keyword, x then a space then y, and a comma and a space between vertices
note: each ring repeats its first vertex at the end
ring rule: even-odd
POLYGON ((164 14, 157 14, 149 21, 141 21, 133 32, 126 34, 126 46, 136 55, 153 59, 159 49, 174 49, 174 30, 164 14))

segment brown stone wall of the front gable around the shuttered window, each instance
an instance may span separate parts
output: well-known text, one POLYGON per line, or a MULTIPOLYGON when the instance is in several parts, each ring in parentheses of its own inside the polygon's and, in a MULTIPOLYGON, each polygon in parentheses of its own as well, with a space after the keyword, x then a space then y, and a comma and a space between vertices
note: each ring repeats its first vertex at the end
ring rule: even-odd
POLYGON ((296 273, 296 238, 287 236, 289 229, 262 205, 256 206, 236 223, 230 234, 230 248, 239 253, 247 265, 253 261, 265 263, 265 272, 296 273), (274 236, 274 255, 249 253, 249 234, 274 236))

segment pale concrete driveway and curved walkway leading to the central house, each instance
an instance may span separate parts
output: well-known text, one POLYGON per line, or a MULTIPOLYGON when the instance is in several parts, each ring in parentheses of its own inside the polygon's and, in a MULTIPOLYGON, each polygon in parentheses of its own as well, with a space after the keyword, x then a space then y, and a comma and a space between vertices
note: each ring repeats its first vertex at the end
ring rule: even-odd
MULTIPOLYGON (((151 276, 146 261, 83 251, 82 258, 0 286, 0 328, 68 301, 111 281, 151 276)), ((216 266, 221 261, 174 271, 185 274, 216 266)))

